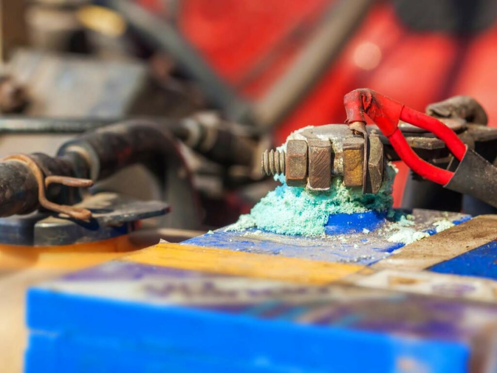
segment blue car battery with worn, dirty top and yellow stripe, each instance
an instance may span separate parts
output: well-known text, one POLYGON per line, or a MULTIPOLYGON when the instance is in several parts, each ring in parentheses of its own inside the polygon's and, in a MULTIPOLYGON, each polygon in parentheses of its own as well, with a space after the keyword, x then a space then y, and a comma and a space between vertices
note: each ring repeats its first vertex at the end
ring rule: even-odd
POLYGON ((34 286, 26 372, 495 370, 497 216, 412 215, 409 244, 364 214, 222 228, 34 286))

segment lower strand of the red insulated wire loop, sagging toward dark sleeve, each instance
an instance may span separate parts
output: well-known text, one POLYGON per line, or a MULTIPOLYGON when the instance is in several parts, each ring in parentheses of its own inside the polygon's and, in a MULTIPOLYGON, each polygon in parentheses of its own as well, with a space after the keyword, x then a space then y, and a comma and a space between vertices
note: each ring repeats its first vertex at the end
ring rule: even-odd
MULTIPOLYGON (((403 120, 405 120, 406 122, 408 121, 407 119, 403 120)), ((449 128, 447 129, 451 131, 449 128)), ((454 175, 454 173, 450 171, 433 166, 419 158, 417 154, 414 153, 414 150, 411 149, 399 128, 397 128, 395 132, 389 137, 389 140, 399 157, 406 163, 406 165, 408 165, 411 170, 413 170, 416 174, 422 176, 423 178, 441 185, 446 185, 454 175)), ((466 152, 466 147, 464 148, 464 151, 466 152)))

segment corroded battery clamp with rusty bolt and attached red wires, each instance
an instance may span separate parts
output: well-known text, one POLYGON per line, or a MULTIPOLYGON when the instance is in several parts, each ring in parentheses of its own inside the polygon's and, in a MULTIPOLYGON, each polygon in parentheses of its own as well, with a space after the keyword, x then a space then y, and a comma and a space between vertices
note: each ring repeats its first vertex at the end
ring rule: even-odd
POLYGON ((497 207, 497 131, 486 123, 467 122, 487 118, 471 97, 429 105, 427 115, 358 89, 345 95, 344 106, 348 125, 306 127, 292 134, 285 152, 263 154, 262 172, 284 174, 288 186, 311 190, 329 190, 331 178, 340 176, 345 187, 376 194, 384 162, 402 160, 420 178, 497 207), (366 116, 375 124, 366 126, 366 116))

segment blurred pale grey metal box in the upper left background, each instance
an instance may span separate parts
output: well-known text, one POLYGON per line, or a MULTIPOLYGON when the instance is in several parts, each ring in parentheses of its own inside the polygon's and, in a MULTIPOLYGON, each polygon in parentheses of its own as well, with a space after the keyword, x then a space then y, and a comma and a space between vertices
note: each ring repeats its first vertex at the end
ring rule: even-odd
POLYGON ((28 115, 56 117, 121 117, 148 77, 137 62, 29 50, 15 53, 9 72, 29 92, 28 115))

